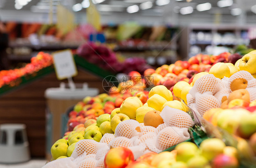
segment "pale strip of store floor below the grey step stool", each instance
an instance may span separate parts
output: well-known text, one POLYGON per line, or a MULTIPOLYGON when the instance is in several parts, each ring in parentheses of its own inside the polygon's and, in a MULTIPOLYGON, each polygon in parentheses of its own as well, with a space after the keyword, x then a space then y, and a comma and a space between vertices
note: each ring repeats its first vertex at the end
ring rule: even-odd
POLYGON ((41 168, 46 164, 46 160, 32 159, 28 162, 17 164, 0 164, 0 168, 41 168))

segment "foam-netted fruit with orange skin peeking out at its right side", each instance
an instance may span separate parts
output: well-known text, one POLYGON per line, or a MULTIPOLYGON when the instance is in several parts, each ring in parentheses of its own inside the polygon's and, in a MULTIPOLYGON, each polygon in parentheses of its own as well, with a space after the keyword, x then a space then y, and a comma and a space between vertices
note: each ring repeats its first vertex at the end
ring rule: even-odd
POLYGON ((142 127, 136 120, 124 120, 118 124, 115 130, 116 137, 132 138, 140 134, 142 134, 142 127))

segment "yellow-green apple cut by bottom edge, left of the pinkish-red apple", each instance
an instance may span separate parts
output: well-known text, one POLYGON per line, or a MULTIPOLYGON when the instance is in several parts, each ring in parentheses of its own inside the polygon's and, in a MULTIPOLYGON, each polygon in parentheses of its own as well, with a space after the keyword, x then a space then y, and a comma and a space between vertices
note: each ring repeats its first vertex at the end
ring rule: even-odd
POLYGON ((195 156, 187 162, 188 168, 211 168, 209 161, 203 156, 195 156))

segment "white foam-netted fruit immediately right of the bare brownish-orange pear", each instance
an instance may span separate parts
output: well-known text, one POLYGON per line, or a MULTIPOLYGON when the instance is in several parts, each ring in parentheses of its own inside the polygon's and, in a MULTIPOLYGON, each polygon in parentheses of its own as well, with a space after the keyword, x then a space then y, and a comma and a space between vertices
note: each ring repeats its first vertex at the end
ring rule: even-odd
POLYGON ((189 128, 194 125, 194 121, 188 113, 169 106, 164 107, 160 116, 163 118, 164 124, 167 126, 189 128))

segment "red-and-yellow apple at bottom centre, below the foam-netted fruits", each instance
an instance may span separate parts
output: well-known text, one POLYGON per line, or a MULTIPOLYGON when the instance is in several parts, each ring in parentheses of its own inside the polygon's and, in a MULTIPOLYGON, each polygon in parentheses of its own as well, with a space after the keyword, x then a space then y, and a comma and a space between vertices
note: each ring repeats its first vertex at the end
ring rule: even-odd
POLYGON ((105 168, 125 168, 133 162, 133 152, 125 147, 112 148, 104 158, 105 168))

